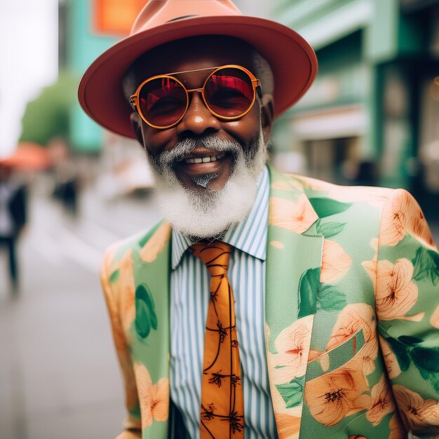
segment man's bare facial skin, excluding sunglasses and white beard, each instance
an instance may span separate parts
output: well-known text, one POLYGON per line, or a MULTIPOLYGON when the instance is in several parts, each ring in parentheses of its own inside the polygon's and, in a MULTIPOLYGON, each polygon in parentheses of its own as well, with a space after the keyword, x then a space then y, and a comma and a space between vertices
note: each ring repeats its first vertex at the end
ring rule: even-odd
MULTIPOLYGON (((203 36, 190 40, 175 41, 161 50, 154 50, 147 62, 135 69, 135 85, 156 74, 184 72, 208 67, 236 64, 252 72, 252 59, 247 45, 238 40, 231 41, 221 36, 203 36), (190 43, 188 43, 190 41, 190 43)), ((255 74, 255 72, 252 72, 255 74)), ((177 75, 187 89, 201 88, 210 71, 192 72, 177 75)), ((255 75, 256 76, 256 75, 255 75)), ((241 147, 246 156, 253 156, 252 151, 259 140, 260 130, 267 138, 271 128, 271 118, 261 119, 261 102, 255 100, 250 112, 234 121, 223 121, 211 114, 203 103, 201 93, 190 93, 189 108, 183 119, 172 128, 158 130, 152 128, 133 114, 133 126, 137 137, 144 145, 152 161, 184 140, 196 141, 196 146, 178 161, 173 161, 173 171, 177 180, 189 190, 218 191, 223 189, 234 170, 236 157, 230 152, 218 154, 218 151, 206 147, 202 140, 206 136, 218 140, 234 142, 241 147), (217 158, 207 163, 188 163, 188 158, 217 158), (208 183, 200 182, 208 176, 208 183)))

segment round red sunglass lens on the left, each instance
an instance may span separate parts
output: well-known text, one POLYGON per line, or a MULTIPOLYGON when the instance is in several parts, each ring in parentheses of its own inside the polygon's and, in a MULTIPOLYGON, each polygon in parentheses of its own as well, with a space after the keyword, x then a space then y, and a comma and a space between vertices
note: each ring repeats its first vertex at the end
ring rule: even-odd
POLYGON ((156 78, 144 84, 139 93, 140 111, 154 126, 169 126, 177 122, 187 107, 184 88, 171 78, 156 78))

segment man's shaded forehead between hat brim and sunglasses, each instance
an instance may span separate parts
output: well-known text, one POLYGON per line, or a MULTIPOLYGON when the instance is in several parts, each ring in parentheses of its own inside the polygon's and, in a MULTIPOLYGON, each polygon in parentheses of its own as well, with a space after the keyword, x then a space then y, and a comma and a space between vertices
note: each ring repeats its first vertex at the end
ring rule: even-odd
POLYGON ((156 74, 237 64, 252 70, 252 47, 227 36, 196 36, 159 46, 143 55, 133 72, 138 81, 156 74))

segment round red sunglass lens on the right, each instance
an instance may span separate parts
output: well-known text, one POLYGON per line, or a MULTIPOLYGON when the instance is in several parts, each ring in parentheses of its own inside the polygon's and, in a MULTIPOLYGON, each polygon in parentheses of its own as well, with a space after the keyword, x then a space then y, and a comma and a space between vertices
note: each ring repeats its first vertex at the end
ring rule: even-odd
POLYGON ((255 92, 248 74, 229 67, 210 76, 205 84, 204 97, 219 116, 237 117, 250 108, 255 92))

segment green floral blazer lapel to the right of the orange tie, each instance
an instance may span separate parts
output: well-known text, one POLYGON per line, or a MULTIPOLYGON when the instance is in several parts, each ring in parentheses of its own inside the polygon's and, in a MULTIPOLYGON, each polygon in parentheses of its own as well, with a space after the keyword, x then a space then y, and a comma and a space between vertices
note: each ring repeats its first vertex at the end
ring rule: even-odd
POLYGON ((266 355, 279 438, 298 438, 323 237, 294 177, 270 170, 266 255, 266 355))

